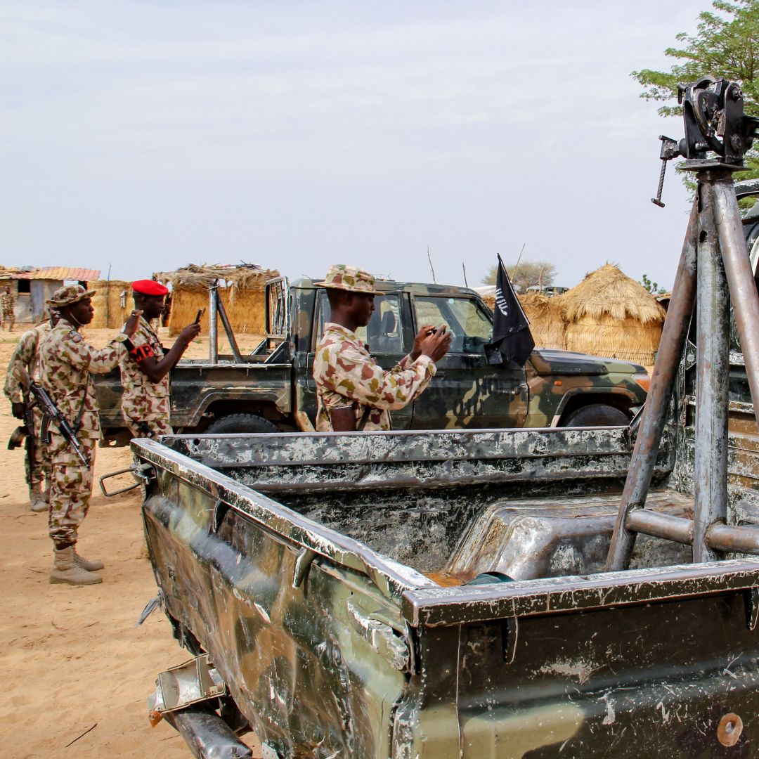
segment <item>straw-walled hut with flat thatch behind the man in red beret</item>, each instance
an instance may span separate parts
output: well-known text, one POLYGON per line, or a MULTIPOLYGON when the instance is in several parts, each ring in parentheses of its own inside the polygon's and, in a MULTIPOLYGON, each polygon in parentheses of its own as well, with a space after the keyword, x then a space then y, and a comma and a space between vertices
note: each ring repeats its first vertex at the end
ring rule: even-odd
POLYGON ((200 326, 203 332, 207 331, 209 287, 218 281, 219 299, 224 304, 232 330, 238 334, 263 335, 266 332, 266 281, 277 276, 276 269, 263 269, 254 263, 238 266, 190 264, 175 272, 156 272, 153 279, 170 284, 172 288, 169 334, 181 332, 203 308, 206 313, 203 313, 200 326))

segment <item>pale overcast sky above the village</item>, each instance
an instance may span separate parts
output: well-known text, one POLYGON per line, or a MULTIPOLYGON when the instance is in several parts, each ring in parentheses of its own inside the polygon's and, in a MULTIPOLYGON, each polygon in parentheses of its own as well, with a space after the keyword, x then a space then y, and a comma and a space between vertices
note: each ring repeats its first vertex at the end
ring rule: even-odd
MULTIPOLYGON (((707 0, 0 5, 0 263, 137 279, 244 260, 479 285, 501 254, 669 288, 650 203, 669 68, 707 0)), ((706 73, 706 72, 705 72, 706 73)))

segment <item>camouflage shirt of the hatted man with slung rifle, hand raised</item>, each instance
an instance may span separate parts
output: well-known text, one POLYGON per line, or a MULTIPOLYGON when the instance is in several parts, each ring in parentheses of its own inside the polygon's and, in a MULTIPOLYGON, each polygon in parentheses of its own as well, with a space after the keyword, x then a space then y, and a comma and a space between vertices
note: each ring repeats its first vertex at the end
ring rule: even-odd
POLYGON ((100 420, 90 373, 106 374, 118 364, 127 335, 106 348, 93 348, 71 324, 61 320, 39 346, 39 383, 72 426, 80 420, 80 439, 98 439, 100 420))

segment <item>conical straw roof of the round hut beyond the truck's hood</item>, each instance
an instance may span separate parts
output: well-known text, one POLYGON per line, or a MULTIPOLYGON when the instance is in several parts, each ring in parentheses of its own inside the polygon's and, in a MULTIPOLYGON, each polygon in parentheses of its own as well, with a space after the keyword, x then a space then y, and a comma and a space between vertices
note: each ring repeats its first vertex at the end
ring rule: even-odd
POLYGON ((643 285, 611 263, 588 274, 560 300, 567 322, 609 316, 619 321, 634 319, 641 324, 661 323, 666 313, 643 285))

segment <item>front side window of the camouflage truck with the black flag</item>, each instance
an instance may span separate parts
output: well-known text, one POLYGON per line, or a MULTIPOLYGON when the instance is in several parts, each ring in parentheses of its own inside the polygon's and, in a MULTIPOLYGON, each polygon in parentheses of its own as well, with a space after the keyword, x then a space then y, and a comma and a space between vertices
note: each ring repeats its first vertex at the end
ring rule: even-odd
POLYGON ((416 297, 414 318, 417 329, 424 324, 446 324, 453 335, 454 353, 480 353, 493 335, 490 319, 471 298, 416 297))

